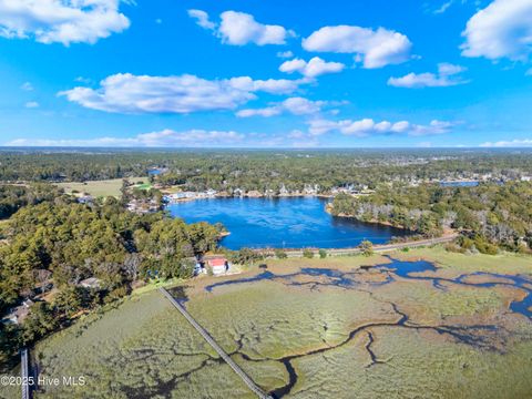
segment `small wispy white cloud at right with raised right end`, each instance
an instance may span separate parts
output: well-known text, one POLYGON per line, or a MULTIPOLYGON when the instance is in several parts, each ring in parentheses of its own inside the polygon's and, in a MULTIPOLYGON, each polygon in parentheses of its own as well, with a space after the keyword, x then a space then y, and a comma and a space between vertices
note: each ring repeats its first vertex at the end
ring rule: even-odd
POLYGON ((434 73, 409 73, 401 78, 390 78, 388 84, 396 88, 447 88, 457 84, 468 83, 459 74, 466 71, 466 68, 450 63, 438 64, 438 74, 434 73))

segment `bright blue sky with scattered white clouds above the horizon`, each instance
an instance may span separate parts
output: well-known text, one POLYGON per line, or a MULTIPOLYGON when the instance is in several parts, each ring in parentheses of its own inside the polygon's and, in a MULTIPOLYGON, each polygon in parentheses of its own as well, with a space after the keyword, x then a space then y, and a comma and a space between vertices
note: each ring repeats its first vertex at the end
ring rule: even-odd
POLYGON ((0 145, 532 146, 531 51, 531 0, 0 0, 0 145))

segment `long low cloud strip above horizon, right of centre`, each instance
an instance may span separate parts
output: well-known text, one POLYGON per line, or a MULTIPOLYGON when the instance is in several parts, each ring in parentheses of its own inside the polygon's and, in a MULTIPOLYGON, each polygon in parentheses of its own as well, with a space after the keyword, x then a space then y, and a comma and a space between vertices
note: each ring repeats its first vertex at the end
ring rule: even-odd
POLYGON ((372 119, 362 119, 358 121, 329 121, 325 119, 316 119, 308 122, 309 133, 313 135, 321 135, 328 132, 340 132, 345 135, 354 135, 357 137, 366 137, 374 134, 408 134, 411 136, 434 135, 448 133, 454 125, 452 122, 443 122, 433 120, 428 125, 415 124, 408 121, 376 122, 372 119))

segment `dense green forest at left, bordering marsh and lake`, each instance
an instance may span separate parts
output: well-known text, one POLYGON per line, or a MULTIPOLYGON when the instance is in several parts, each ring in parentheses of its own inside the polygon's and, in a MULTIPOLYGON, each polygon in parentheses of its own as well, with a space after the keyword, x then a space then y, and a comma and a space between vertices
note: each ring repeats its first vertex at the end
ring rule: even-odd
POLYGON ((164 213, 137 215, 112 197, 82 205, 58 196, 20 208, 2 235, 0 314, 27 298, 35 304, 21 327, 0 325, 0 360, 140 280, 192 276, 191 257, 214 249, 219 229, 164 213), (88 278, 96 286, 84 287, 88 278))

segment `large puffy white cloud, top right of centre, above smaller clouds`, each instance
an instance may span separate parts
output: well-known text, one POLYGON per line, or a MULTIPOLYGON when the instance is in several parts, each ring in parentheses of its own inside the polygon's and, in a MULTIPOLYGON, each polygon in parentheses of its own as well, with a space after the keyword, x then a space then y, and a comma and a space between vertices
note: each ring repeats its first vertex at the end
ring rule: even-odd
POLYGON ((324 27, 303 40, 307 51, 357 54, 368 69, 407 61, 411 47, 402 33, 351 25, 324 27))

